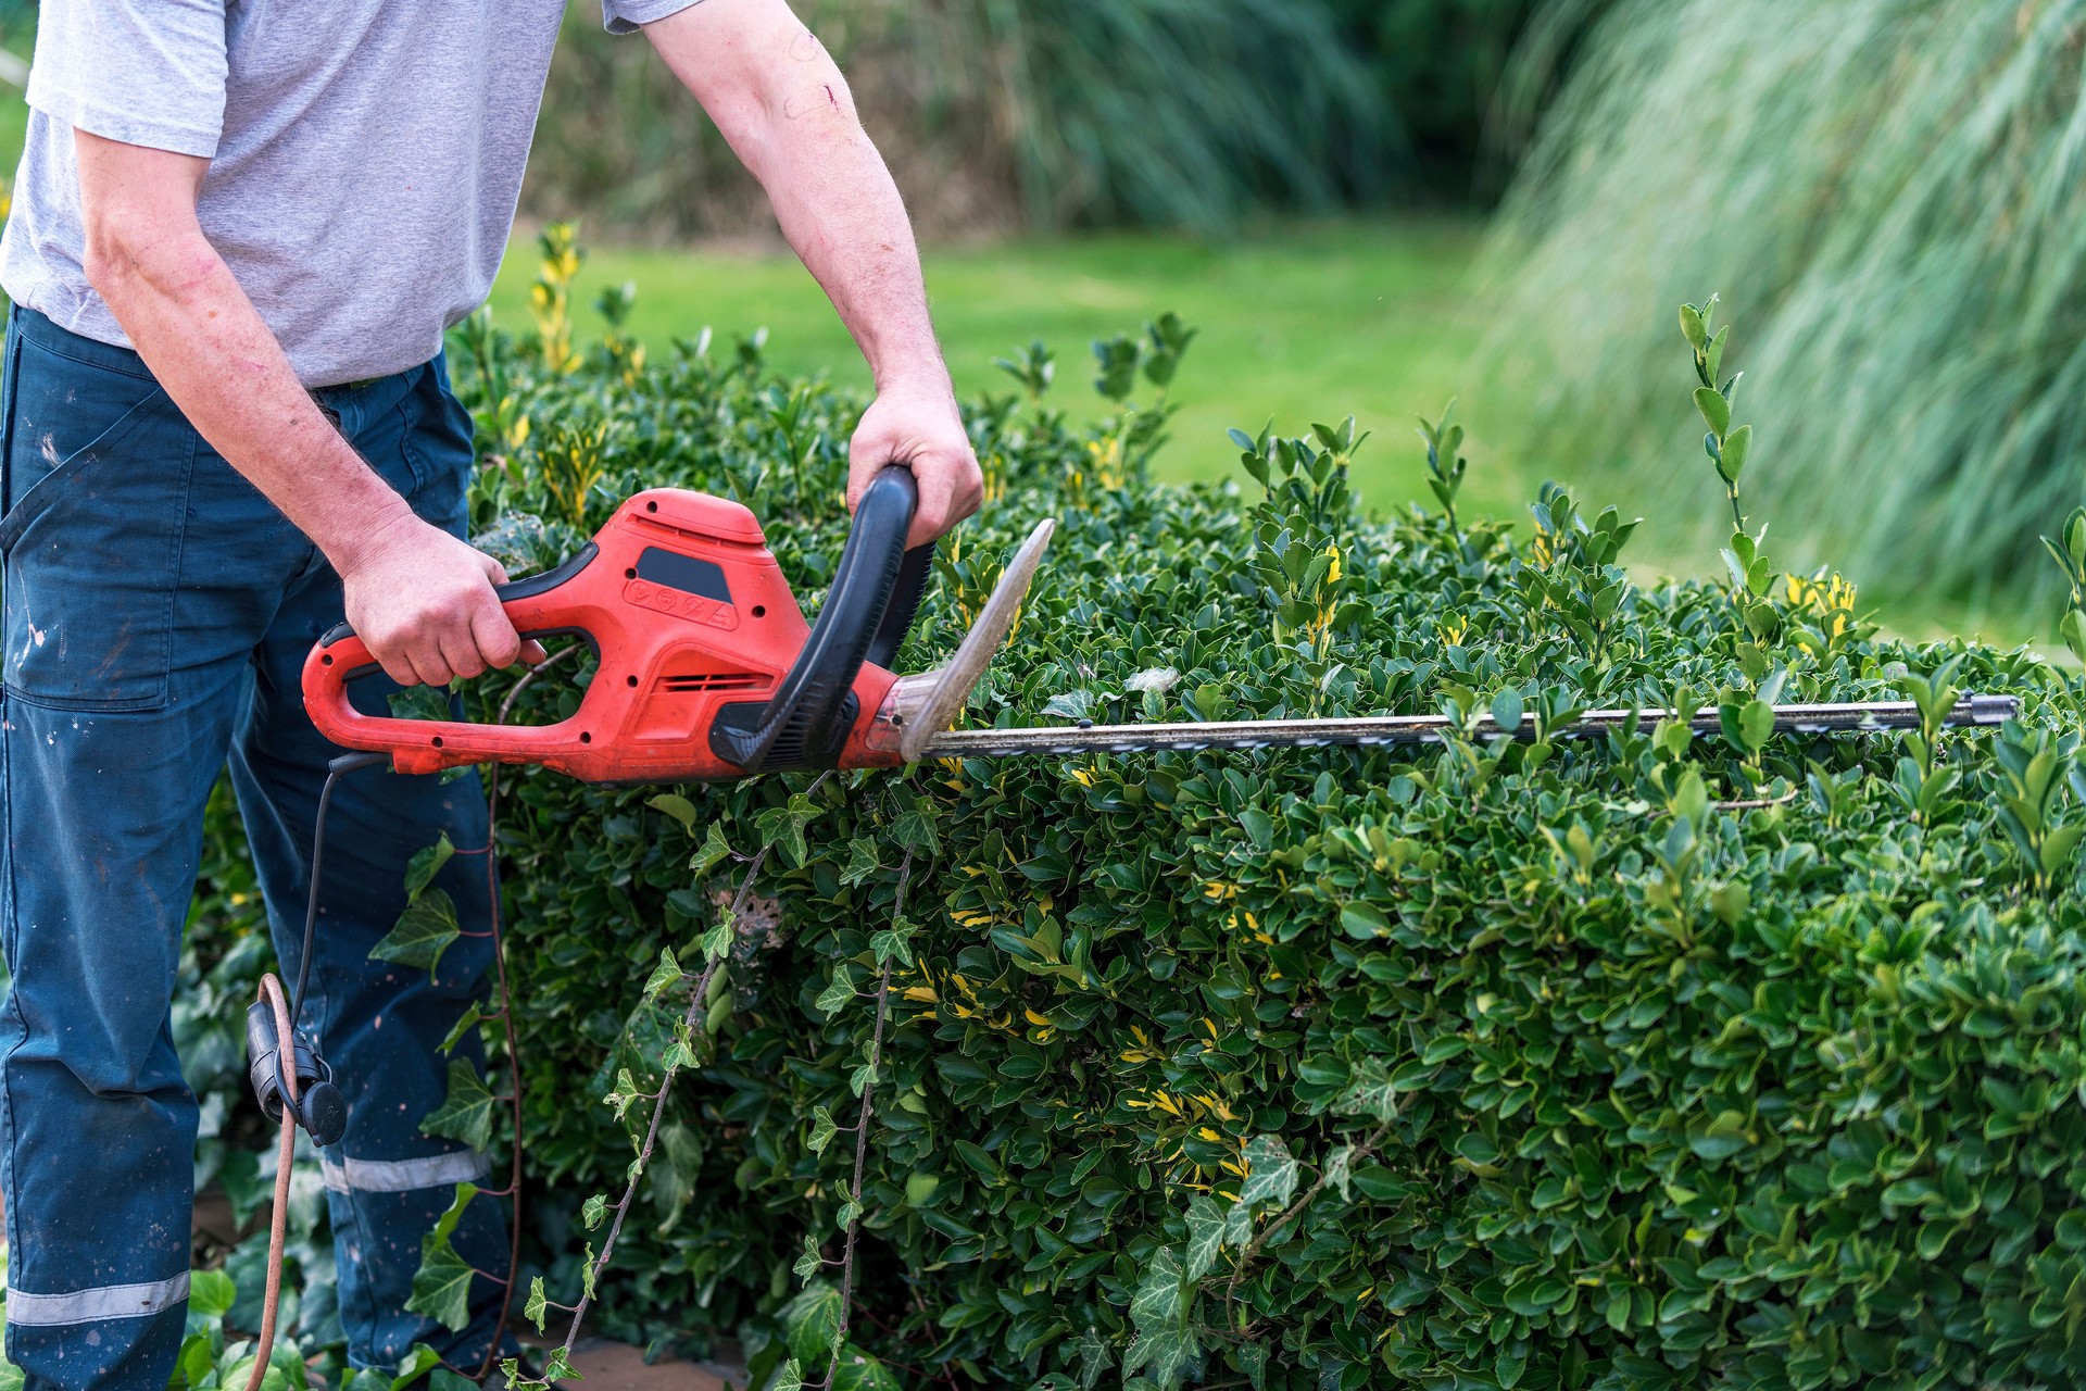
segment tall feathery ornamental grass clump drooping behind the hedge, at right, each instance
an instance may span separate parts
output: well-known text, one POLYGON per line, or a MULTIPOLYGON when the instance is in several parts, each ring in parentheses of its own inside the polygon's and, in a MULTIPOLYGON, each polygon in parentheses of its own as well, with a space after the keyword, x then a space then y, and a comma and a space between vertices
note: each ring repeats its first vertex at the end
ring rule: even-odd
POLYGON ((2086 6, 1644 0, 1598 31, 1496 231, 1521 444, 1708 517, 1667 446, 1665 307, 1738 286, 1802 555, 1892 592, 2048 594, 2080 498, 2086 6))

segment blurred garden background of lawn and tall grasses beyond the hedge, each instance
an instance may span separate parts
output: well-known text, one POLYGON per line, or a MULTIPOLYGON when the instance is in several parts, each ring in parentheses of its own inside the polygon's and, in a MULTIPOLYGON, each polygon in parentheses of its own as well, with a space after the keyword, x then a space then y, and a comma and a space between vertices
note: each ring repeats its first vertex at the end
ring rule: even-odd
MULTIPOLYGON (((799 0, 928 242, 966 390, 1033 338, 1202 327, 1177 478, 1227 425, 1356 413, 1377 507, 1462 396, 1471 494, 1554 478, 1715 565, 1673 309, 1721 292, 1777 559, 1915 632, 2040 634, 2038 530, 2080 501, 2086 0, 799 0)), ((0 0, 27 54, 33 6, 0 0)), ((19 92, 0 142, 19 144, 19 92)), ((0 154, 8 154, 0 148, 0 154)), ((567 13, 524 231, 574 219, 578 298, 632 330, 770 330, 866 382, 766 200, 649 46, 567 13)), ((534 254, 496 317, 528 323, 534 254)), ((2055 569, 2048 578, 2055 578, 2055 569)))

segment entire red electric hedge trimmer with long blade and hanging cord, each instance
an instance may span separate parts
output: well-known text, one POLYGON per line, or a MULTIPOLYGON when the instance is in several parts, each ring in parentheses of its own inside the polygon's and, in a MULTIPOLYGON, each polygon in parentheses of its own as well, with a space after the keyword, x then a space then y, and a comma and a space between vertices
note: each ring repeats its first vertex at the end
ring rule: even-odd
MULTIPOLYGON (((914 507, 914 478, 905 467, 889 467, 870 484, 818 621, 807 624, 751 511, 684 488, 632 496, 567 563, 499 590, 524 636, 574 636, 599 661, 580 707, 553 726, 365 715, 348 703, 348 682, 378 665, 361 638, 340 626, 305 663, 305 707, 313 724, 344 749, 363 751, 336 759, 332 776, 384 761, 401 774, 532 763, 597 784, 701 782, 901 767, 935 757, 1414 745, 1456 732, 1533 734, 1531 719, 1500 728, 1489 717, 1464 724, 1450 715, 949 730, 1012 630, 1053 523, 1039 521, 1014 553, 947 665, 895 676, 889 665, 912 628, 932 559, 932 546, 905 548, 914 507)), ((1973 694, 1957 703, 1948 724, 1994 726, 2015 709, 2013 697, 1973 694)), ((1800 734, 1921 724, 1911 701, 1777 705, 1773 713, 1775 730, 1800 734)), ((1665 711, 1590 711, 1569 732, 1638 728, 1663 717, 1665 711)), ((1717 711, 1698 715, 1694 728, 1715 732, 1717 711)), ((305 922, 307 963, 323 845, 321 795, 305 922)), ((302 999, 302 978, 286 1001, 282 984, 267 976, 263 999, 248 1011, 254 1091, 269 1116, 280 1118, 284 1137, 252 1387, 267 1370, 275 1333, 292 1126, 302 1124, 321 1145, 346 1126, 325 1064, 294 1028, 302 999), (280 1047, 284 1034, 294 1039, 292 1049, 280 1047), (284 1057, 294 1066, 286 1068, 284 1057)))

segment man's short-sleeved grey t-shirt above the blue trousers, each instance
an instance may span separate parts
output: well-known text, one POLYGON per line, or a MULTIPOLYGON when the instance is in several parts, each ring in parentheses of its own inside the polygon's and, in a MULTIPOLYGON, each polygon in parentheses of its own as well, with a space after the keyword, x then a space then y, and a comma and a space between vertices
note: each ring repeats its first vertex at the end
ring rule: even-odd
MULTIPOLYGON (((697 0, 603 0, 628 31, 697 0)), ((81 271, 73 127, 211 161, 202 231, 296 375, 434 357, 507 248, 561 0, 44 0, 0 238, 17 304, 129 346, 81 271)))

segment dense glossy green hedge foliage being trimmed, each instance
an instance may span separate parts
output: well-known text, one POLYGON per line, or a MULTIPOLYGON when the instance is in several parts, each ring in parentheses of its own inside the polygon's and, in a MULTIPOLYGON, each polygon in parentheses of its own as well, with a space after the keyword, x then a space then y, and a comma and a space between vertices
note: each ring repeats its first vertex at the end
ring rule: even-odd
MULTIPOLYGON (((567 553, 640 486, 759 513, 801 594, 845 534, 862 400, 757 342, 553 369, 461 344, 486 544, 567 553)), ((1631 526, 1368 519, 1352 428, 1239 436, 1162 486, 1172 321, 968 409, 985 513, 943 546, 905 667, 1060 519, 968 724, 1450 711, 1423 749, 937 761, 588 788, 501 809, 532 1251, 574 1299, 699 959, 759 847, 761 932, 668 1109, 605 1320, 736 1333, 807 1376, 855 1137, 834 1137, 897 955, 851 1385, 1971 1387, 2086 1374, 2080 682, 1879 636, 1838 576, 1638 586, 1631 526), (1758 582, 1758 584, 1756 584, 1758 582), (1758 590, 1758 592, 1754 592, 1758 590), (1763 609, 1765 605, 1765 609, 1763 609), (1761 703, 2015 692, 2005 730, 1769 736, 1761 703), (1569 738, 1594 707, 1702 709, 1569 738), (1477 734, 1489 711, 1533 738, 1477 734), (891 899, 909 857, 909 907, 891 899), (874 941, 876 934, 893 932, 874 941), (630 1087, 620 1072, 630 1072, 630 1087)), ((1675 361, 1675 390, 1688 390, 1675 361)), ((1379 446, 1379 444, 1377 444, 1379 446)), ((1756 569, 1756 567, 1754 567, 1756 569)), ((584 678, 582 678, 584 680, 584 678)), ((469 701, 490 715, 511 678, 469 701)), ((517 717, 580 682, 544 678, 517 717)), ((229 859, 229 857, 225 857, 229 859)), ((223 888, 221 884, 217 886, 223 888)))

